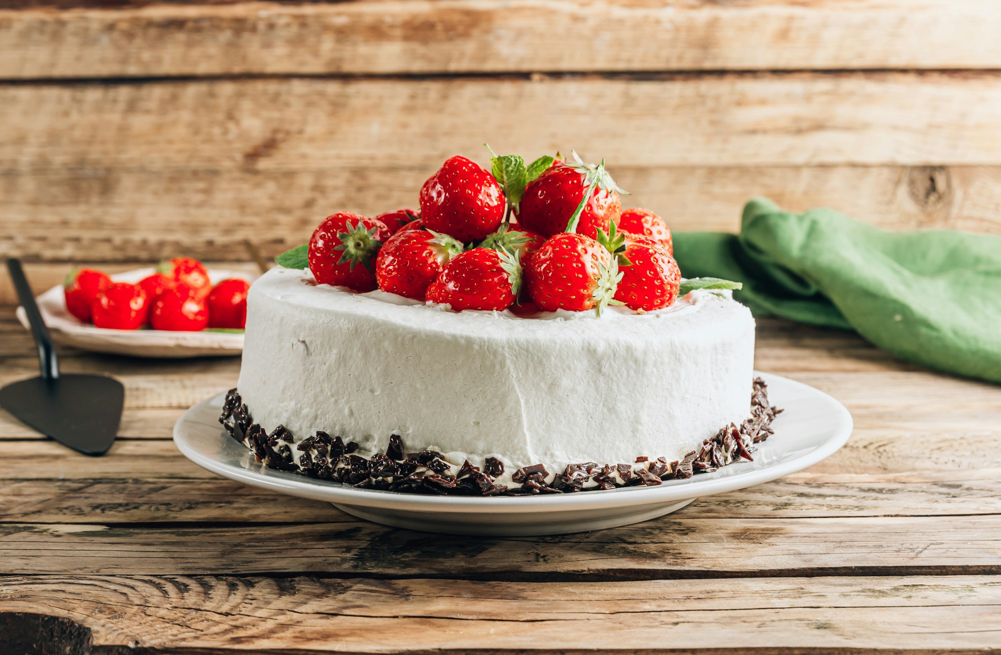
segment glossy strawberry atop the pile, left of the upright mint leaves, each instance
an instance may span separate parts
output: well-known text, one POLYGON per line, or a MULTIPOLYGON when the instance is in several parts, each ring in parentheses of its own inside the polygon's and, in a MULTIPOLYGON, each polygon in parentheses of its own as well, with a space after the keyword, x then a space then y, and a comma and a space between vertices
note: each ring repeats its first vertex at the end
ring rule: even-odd
POLYGON ((428 229, 460 241, 477 241, 504 219, 505 196, 479 164, 450 157, 420 188, 420 219, 428 229))

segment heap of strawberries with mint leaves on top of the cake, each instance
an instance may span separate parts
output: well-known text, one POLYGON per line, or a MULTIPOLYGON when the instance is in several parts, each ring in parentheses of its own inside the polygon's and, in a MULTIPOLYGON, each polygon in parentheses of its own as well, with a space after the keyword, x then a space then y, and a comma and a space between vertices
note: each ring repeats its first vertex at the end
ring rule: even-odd
POLYGON ((276 260, 309 266, 316 280, 376 287, 463 309, 669 306, 681 272, 671 229, 649 209, 623 211, 621 189, 600 164, 492 155, 491 170, 453 156, 410 209, 374 218, 328 216, 307 245, 276 260), (525 283, 523 284, 523 279, 525 283))

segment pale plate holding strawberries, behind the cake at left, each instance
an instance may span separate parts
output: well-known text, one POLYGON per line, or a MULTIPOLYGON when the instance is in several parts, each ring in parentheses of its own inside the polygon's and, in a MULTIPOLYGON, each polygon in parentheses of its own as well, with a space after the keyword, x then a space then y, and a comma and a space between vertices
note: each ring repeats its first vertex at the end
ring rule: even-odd
MULTIPOLYGON (((137 282, 153 273, 155 268, 136 268, 111 275, 116 282, 137 282)), ((252 282, 256 275, 235 270, 209 270, 214 284, 228 277, 240 277, 252 282)), ((52 340, 61 346, 72 346, 94 353, 131 355, 140 358, 191 358, 206 355, 239 355, 243 351, 243 335, 213 332, 167 332, 163 330, 106 330, 85 323, 66 310, 62 286, 53 286, 35 298, 52 340)), ((17 319, 26 329, 28 316, 24 307, 17 308, 17 319)))

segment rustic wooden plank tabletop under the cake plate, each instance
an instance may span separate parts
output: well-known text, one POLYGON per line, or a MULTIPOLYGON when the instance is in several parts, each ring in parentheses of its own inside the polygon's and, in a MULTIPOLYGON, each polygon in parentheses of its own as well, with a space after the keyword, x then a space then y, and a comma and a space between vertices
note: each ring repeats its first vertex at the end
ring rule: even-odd
MULTIPOLYGON (((6 384, 37 362, 0 311, 6 384)), ((830 459, 639 525, 517 539, 383 528, 194 466, 173 422, 232 387, 237 359, 67 351, 62 364, 124 383, 121 433, 87 458, 0 412, 0 642, 38 633, 69 647, 44 652, 116 655, 1001 644, 1001 389, 850 334, 759 321, 759 369, 852 412, 830 459)))

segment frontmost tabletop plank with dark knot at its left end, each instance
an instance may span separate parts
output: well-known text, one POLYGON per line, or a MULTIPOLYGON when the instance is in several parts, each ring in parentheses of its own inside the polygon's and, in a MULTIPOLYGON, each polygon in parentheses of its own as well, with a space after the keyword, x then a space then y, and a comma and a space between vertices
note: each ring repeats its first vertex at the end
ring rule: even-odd
POLYGON ((97 647, 157 653, 235 644, 258 654, 527 653, 560 644, 562 652, 732 654, 740 644, 752 653, 916 655, 991 652, 1001 637, 1001 583, 974 576, 612 582, 602 590, 596 599, 589 583, 11 577, 0 580, 0 616, 65 617, 90 628, 97 647))

